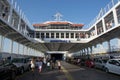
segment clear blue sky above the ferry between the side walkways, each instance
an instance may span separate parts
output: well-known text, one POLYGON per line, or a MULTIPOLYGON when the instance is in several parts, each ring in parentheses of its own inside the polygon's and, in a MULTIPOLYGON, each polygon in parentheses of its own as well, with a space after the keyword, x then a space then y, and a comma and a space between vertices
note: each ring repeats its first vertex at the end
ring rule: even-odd
POLYGON ((41 23, 54 20, 53 15, 60 12, 62 20, 86 25, 92 21, 101 8, 111 0, 16 0, 28 20, 41 23))

